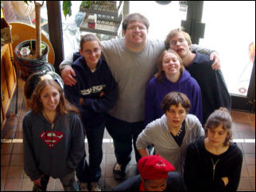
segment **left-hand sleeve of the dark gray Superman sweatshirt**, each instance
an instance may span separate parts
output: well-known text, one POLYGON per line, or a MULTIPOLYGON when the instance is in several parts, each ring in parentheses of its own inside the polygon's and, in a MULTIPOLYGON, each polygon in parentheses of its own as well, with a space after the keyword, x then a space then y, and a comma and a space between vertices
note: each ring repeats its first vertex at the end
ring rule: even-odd
POLYGON ((24 148, 24 170, 26 175, 34 181, 40 178, 41 172, 37 168, 37 163, 33 148, 32 125, 28 117, 24 117, 22 122, 23 148, 24 148))

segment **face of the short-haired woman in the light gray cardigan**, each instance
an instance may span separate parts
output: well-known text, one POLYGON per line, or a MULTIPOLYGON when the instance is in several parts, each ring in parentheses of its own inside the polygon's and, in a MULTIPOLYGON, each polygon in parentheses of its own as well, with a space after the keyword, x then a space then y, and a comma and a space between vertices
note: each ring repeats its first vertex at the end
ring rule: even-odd
POLYGON ((181 125, 187 116, 186 109, 179 103, 178 106, 172 105, 169 110, 165 112, 169 128, 180 129, 181 125))

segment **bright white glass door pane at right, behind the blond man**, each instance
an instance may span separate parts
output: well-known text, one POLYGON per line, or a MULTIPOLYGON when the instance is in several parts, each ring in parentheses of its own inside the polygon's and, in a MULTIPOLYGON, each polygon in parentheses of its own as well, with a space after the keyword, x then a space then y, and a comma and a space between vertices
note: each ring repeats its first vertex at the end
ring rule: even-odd
POLYGON ((255 56, 255 2, 204 1, 200 46, 219 52, 231 94, 246 96, 255 56))

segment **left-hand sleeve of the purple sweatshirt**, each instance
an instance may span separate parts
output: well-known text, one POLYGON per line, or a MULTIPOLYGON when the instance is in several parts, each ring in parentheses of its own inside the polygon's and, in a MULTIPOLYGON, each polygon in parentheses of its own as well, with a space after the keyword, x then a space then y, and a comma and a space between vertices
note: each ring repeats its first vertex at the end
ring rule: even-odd
POLYGON ((145 90, 145 126, 157 119, 156 109, 153 102, 153 87, 149 81, 145 90))

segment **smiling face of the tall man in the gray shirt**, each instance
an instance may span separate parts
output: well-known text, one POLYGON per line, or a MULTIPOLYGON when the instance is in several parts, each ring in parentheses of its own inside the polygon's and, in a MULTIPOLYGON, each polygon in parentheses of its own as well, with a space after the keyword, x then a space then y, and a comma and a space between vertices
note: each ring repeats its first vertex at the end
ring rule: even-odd
POLYGON ((142 21, 130 21, 123 31, 127 48, 144 48, 148 30, 142 21))

